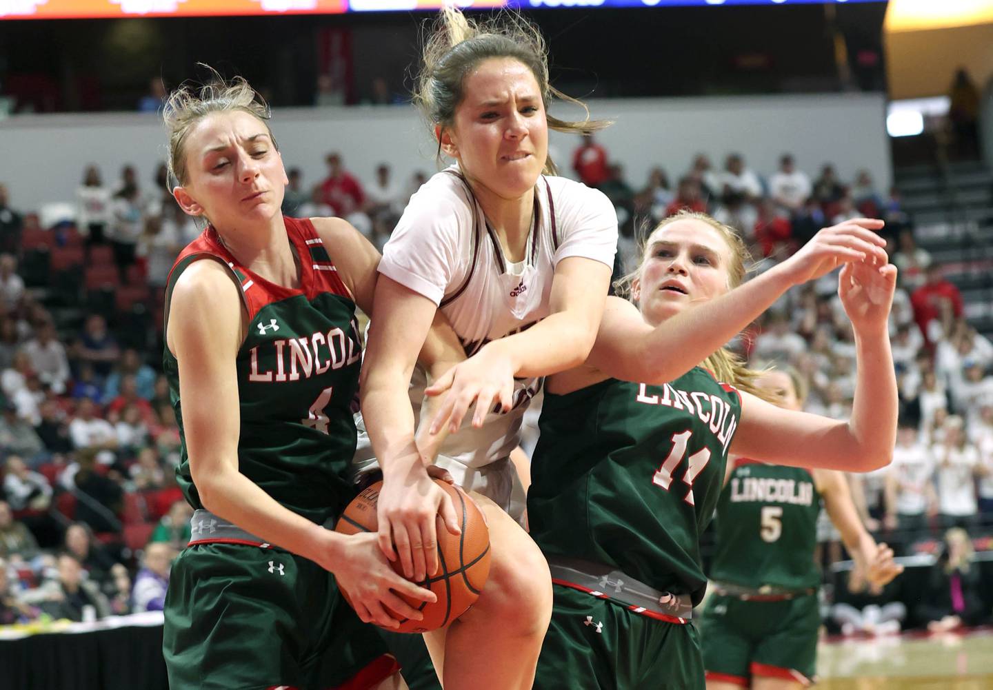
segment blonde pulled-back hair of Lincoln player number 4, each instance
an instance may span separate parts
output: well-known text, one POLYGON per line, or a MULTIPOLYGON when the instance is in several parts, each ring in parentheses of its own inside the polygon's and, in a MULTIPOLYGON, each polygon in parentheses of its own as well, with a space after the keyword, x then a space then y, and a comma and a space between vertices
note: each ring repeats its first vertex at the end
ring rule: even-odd
MULTIPOLYGON (((215 112, 247 112, 265 125, 272 145, 279 150, 269 127, 272 114, 265 99, 241 76, 227 80, 210 66, 210 78, 203 84, 183 83, 169 94, 162 108, 162 119, 169 132, 168 185, 186 185, 186 137, 202 119, 215 112)), ((167 190, 172 193, 172 189, 167 190)))

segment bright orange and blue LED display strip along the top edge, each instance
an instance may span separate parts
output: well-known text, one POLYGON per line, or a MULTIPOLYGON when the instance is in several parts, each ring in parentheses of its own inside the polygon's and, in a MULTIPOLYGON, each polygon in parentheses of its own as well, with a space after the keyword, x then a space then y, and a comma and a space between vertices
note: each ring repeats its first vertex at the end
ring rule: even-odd
MULTIPOLYGON (((828 0, 830 1, 830 0, 828 0)), ((881 2, 883 0, 835 0, 881 2)), ((464 9, 788 5, 824 0, 455 0, 464 9)), ((0 0, 2 19, 217 17, 436 10, 444 0, 0 0)))

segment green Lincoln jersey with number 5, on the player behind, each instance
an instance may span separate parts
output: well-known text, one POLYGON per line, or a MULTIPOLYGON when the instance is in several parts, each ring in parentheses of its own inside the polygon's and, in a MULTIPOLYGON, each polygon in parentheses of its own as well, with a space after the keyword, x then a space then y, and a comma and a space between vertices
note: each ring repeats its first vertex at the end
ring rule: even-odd
POLYGON ((819 513, 820 493, 806 470, 737 460, 717 502, 711 579, 755 589, 817 587, 819 513))

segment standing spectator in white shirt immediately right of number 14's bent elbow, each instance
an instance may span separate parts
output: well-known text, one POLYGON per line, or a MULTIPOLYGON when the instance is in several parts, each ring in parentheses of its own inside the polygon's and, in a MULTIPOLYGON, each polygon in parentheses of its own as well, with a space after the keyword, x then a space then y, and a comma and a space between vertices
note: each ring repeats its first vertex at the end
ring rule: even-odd
POLYGON ((886 482, 886 527, 899 528, 904 540, 927 531, 927 517, 937 510, 934 459, 918 441, 918 430, 901 426, 886 482))

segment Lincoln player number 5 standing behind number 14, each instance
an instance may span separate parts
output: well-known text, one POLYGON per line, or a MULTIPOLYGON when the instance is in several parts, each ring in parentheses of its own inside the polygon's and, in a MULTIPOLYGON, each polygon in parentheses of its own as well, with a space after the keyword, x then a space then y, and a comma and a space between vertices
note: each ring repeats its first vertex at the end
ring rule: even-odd
MULTIPOLYGON (((760 385, 781 407, 802 409, 805 390, 794 371, 770 371, 760 385)), ((863 527, 843 474, 730 462, 717 501, 713 592, 700 626, 707 690, 790 690, 813 681, 821 500, 857 580, 879 591, 903 570, 863 527)))

